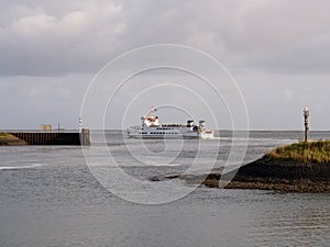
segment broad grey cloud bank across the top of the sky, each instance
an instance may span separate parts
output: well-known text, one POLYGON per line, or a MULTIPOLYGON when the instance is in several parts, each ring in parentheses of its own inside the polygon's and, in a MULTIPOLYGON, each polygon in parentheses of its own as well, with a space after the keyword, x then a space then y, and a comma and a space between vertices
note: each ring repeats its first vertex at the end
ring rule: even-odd
POLYGON ((155 43, 195 46, 239 68, 306 70, 319 54, 330 63, 324 45, 311 45, 330 34, 330 3, 322 0, 33 0, 4 7, 2 75, 95 72, 122 52, 155 43), (305 64, 295 55, 301 43, 305 64))

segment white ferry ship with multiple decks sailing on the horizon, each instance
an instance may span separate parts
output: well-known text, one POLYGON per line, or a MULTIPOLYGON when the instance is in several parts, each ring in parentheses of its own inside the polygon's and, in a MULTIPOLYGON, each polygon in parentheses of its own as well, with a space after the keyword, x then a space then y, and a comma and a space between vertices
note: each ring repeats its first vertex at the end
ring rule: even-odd
POLYGON ((198 125, 195 125, 193 120, 188 120, 186 124, 161 124, 155 112, 156 109, 152 109, 146 116, 142 116, 141 127, 129 128, 128 136, 130 138, 213 138, 213 131, 206 130, 204 120, 200 120, 198 125))

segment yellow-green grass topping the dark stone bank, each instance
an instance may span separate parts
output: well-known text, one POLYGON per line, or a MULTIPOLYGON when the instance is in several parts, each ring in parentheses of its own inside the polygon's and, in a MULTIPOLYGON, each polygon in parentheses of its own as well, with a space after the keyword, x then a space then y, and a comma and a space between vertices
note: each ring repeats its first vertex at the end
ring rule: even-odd
POLYGON ((330 162, 330 141, 296 143, 277 147, 266 154, 265 158, 315 164, 330 162))

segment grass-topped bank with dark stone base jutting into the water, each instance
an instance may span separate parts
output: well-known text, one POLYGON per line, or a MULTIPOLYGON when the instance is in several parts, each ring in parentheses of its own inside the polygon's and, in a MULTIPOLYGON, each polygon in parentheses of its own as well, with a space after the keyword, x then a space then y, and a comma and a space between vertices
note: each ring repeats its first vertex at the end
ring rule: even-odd
POLYGON ((209 175, 204 184, 219 187, 220 178, 228 189, 330 193, 330 141, 275 148, 239 170, 209 175))

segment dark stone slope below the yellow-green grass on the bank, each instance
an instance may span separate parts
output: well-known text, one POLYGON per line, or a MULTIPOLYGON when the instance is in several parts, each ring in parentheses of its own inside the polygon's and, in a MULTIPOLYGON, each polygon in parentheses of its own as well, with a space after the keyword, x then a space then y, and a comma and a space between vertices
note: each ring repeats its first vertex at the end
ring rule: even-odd
MULTIPOLYGON (((227 189, 261 189, 283 192, 329 193, 330 164, 280 161, 262 158, 241 167, 234 178, 226 184, 227 189)), ((202 182, 219 188, 220 178, 226 181, 233 173, 210 173, 202 182)))

